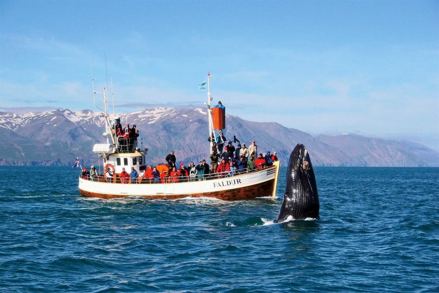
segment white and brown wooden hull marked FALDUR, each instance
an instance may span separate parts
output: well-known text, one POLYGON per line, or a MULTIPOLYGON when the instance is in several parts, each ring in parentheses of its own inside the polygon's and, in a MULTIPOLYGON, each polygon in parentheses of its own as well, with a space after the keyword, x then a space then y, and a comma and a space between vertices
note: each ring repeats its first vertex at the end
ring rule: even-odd
POLYGON ((83 196, 103 199, 139 196, 151 199, 214 197, 222 200, 245 200, 276 194, 280 163, 248 174, 204 181, 167 184, 121 184, 89 181, 79 178, 83 196))

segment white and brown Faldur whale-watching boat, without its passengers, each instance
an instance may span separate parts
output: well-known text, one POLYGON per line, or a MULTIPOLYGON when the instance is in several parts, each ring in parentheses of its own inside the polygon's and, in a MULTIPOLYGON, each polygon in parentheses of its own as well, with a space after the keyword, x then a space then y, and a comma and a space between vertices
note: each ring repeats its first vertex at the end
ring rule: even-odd
MULTIPOLYGON (((225 128, 225 108, 215 108, 211 106, 212 97, 210 93, 210 78, 207 76, 207 98, 204 102, 209 116, 209 132, 212 137, 209 139, 209 152, 212 148, 216 134, 225 128)), ((144 197, 150 199, 178 199, 184 197, 213 197, 217 199, 234 201, 247 200, 257 197, 275 196, 277 187, 277 177, 280 170, 280 161, 267 165, 259 165, 250 170, 242 169, 229 174, 214 173, 197 176, 196 178, 187 177, 166 177, 160 180, 143 178, 148 164, 148 148, 138 147, 135 138, 116 137, 112 131, 108 114, 108 87, 101 92, 94 90, 94 78, 92 74, 94 103, 96 105, 96 94, 102 93, 104 109, 101 109, 104 119, 106 144, 96 144, 93 147, 100 160, 97 169, 97 176, 79 175, 79 192, 86 197, 97 197, 102 199, 125 198, 130 196, 144 197), (121 178, 119 174, 122 168, 130 172, 134 168, 139 174, 138 178, 121 178), (105 176, 105 170, 110 168, 114 175, 105 176)), ((206 83, 205 82, 205 83, 206 83)), ((113 94, 112 94, 113 98, 113 94)), ((114 98, 113 98, 113 118, 114 118, 114 98)), ((221 138, 220 138, 221 139, 221 138)), ((222 141, 222 143, 226 141, 222 141)), ((234 136, 234 143, 240 143, 234 136)), ((227 143, 227 142, 226 142, 227 143)), ((167 170, 169 165, 158 164, 157 169, 167 170)))

